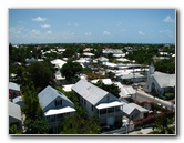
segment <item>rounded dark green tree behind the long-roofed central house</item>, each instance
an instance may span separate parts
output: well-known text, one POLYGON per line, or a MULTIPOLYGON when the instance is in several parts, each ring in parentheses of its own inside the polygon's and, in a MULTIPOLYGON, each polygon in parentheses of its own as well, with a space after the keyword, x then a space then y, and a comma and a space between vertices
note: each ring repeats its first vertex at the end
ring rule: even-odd
POLYGON ((81 72, 82 72, 82 67, 78 62, 69 61, 61 68, 61 73, 65 76, 68 81, 73 80, 75 75, 81 72))

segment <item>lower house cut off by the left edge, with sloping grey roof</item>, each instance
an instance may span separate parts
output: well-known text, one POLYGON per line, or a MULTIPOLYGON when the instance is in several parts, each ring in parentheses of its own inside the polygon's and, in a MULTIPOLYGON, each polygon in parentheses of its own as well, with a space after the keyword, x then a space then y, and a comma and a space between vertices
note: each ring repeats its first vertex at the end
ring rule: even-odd
POLYGON ((21 109, 20 105, 9 101, 9 127, 17 125, 18 130, 22 130, 21 109))

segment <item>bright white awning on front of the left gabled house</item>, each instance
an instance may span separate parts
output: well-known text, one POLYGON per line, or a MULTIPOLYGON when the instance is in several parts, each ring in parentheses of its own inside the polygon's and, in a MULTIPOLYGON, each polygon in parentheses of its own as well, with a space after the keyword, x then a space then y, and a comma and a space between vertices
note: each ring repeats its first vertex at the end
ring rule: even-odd
POLYGON ((76 111, 73 108, 67 106, 67 108, 62 108, 62 109, 52 109, 49 110, 48 112, 44 113, 45 116, 48 115, 54 115, 54 114, 63 114, 63 113, 69 113, 69 112, 74 112, 76 111))

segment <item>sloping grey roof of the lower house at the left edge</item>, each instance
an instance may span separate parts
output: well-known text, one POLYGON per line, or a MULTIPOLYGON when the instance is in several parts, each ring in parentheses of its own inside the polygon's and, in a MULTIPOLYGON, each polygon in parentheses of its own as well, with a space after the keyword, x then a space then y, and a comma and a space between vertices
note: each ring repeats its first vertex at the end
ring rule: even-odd
POLYGON ((21 121, 20 105, 14 104, 11 101, 9 101, 9 116, 12 116, 12 118, 21 121))

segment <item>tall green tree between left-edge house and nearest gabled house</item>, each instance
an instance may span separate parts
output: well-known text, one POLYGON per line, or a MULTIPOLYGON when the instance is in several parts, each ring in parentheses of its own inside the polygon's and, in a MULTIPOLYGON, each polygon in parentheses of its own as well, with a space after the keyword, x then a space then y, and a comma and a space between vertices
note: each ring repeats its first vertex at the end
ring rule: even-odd
POLYGON ((25 134, 48 133, 49 126, 42 116, 42 110, 38 99, 38 91, 34 86, 23 88, 23 113, 25 114, 23 125, 25 127, 25 134))

